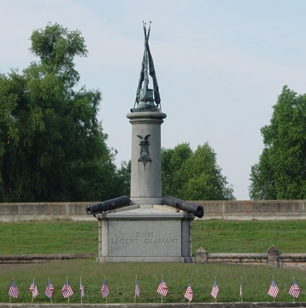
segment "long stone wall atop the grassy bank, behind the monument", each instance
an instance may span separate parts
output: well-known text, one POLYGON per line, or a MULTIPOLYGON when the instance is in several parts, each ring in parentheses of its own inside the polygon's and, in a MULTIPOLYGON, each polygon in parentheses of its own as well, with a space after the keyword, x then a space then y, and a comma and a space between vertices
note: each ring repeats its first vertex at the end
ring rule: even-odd
MULTIPOLYGON (((298 220, 306 219, 305 200, 278 201, 190 201, 204 207, 207 219, 298 220)), ((0 222, 26 220, 95 220, 86 214, 94 202, 0 203, 0 222)), ((199 219, 199 218, 196 218, 199 219)))

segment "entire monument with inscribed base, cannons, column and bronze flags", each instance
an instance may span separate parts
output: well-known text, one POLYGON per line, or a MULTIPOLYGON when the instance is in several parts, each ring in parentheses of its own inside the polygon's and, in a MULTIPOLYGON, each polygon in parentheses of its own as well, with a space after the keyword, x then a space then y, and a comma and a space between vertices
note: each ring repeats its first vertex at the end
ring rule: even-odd
POLYGON ((192 220, 203 207, 162 198, 160 107, 149 29, 144 28, 144 55, 131 123, 131 196, 89 205, 99 220, 99 262, 193 262, 192 220), (149 75, 153 89, 149 88, 149 75))

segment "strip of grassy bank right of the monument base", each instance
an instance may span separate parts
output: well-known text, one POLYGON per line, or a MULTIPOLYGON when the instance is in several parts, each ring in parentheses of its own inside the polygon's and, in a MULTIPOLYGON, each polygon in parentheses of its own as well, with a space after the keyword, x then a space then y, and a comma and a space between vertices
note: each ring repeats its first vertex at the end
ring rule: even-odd
POLYGON ((230 221, 192 223, 192 246, 208 253, 266 253, 272 245, 279 253, 306 253, 306 220, 230 221))

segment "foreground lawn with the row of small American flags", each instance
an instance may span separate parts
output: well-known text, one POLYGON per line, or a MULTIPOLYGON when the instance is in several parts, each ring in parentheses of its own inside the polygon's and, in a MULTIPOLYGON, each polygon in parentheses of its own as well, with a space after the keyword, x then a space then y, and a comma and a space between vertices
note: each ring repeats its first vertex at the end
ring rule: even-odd
MULTIPOLYGON (((0 267, 0 303, 8 303, 10 280, 14 277, 20 290, 20 296, 12 299, 14 303, 31 303, 29 285, 34 276, 40 294, 34 303, 49 303, 44 296, 44 287, 48 277, 55 287, 53 303, 67 303, 60 294, 66 276, 75 291, 70 303, 80 303, 79 277, 84 283, 86 296, 84 303, 105 303, 101 298, 101 283, 106 277, 110 287, 107 303, 133 303, 135 277, 140 283, 138 303, 160 303, 156 294, 157 285, 163 275, 169 289, 164 303, 184 303, 183 293, 188 279, 192 284, 194 302, 213 303, 210 296, 212 283, 216 277, 220 292, 218 302, 239 302, 240 276, 244 281, 244 301, 272 302, 267 290, 272 277, 280 288, 277 301, 290 302, 288 294, 294 276, 301 290, 306 289, 305 271, 288 268, 270 268, 265 266, 229 266, 224 264, 97 264, 92 259, 55 261, 48 264, 26 264, 19 266, 0 267)), ((306 301, 305 292, 296 301, 306 301)))

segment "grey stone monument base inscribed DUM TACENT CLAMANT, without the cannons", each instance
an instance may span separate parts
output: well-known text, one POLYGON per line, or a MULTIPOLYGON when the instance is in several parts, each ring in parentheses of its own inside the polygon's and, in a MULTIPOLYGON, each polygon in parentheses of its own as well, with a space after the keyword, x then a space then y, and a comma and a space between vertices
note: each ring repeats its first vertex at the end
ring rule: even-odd
POLYGON ((97 214, 99 262, 191 263, 193 214, 166 205, 130 205, 97 214))

